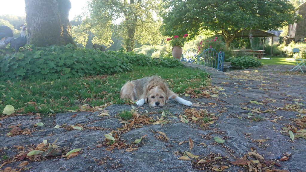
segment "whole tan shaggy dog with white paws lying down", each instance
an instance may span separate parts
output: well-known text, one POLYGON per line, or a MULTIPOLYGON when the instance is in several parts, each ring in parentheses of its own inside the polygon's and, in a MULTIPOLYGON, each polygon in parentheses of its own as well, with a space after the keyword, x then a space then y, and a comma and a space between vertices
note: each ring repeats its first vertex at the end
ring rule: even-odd
POLYGON ((191 106, 190 101, 184 100, 168 88, 165 80, 157 77, 145 77, 138 80, 126 82, 120 91, 121 99, 138 100, 136 104, 142 106, 149 103, 150 107, 162 107, 169 99, 174 99, 178 103, 191 106))

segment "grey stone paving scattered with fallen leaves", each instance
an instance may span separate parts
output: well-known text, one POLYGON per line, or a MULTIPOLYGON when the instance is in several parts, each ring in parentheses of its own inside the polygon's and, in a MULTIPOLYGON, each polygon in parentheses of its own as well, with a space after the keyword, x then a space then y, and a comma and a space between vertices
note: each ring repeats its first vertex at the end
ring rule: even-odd
MULTIPOLYGON (((161 118, 161 110, 164 110, 165 120, 168 122, 156 125, 135 123, 122 131, 117 129, 124 126, 120 123, 118 113, 132 109, 132 105, 115 104, 106 107, 104 110, 108 110, 110 116, 97 116, 101 112, 96 111, 61 113, 43 118, 37 118, 35 115, 4 118, 0 121, 0 153, 7 155, 9 159, 0 161, 0 166, 4 163, 1 169, 11 167, 19 170, 22 167, 17 166, 28 161, 25 167, 32 166, 29 170, 35 172, 217 171, 221 166, 229 167, 224 167, 224 171, 236 172, 248 171, 250 168, 247 164, 241 167, 230 163, 245 156, 248 160, 260 160, 260 163, 266 166, 272 162, 279 165, 272 164, 273 167, 269 167, 269 170, 258 171, 306 171, 306 139, 294 138, 292 141, 289 133, 280 133, 282 127, 289 124, 302 129, 293 119, 306 113, 306 75, 286 72, 293 66, 285 65, 265 65, 256 69, 225 73, 204 66, 185 65, 211 73, 211 86, 218 91, 214 93, 216 96, 194 97, 190 93, 186 97, 182 95, 184 99, 193 102, 192 107, 176 103, 158 109, 149 108, 146 104, 141 108, 133 105, 138 114, 145 115, 141 118, 150 118, 155 122, 156 116, 161 118), (199 113, 200 109, 207 110, 208 114, 215 114, 211 116, 215 118, 211 124, 206 123, 208 125, 192 122, 191 118, 188 123, 183 123, 179 115, 185 114, 184 110, 189 108, 195 108, 199 113), (38 122, 43 122, 44 125, 34 126, 38 122), (63 127, 63 124, 78 124, 83 126, 84 130, 69 129, 63 127), (30 134, 6 136, 14 127, 12 125, 20 125, 18 127, 23 131, 29 129, 30 134), (54 128, 56 125, 61 127, 54 128), (124 143, 126 146, 107 151, 110 146, 106 144, 104 134, 112 131, 115 131, 113 136, 118 135, 118 143, 124 143), (168 139, 160 134, 161 132, 168 139), (140 143, 132 143, 144 135, 147 136, 140 143), (225 142, 216 143, 215 136, 221 137, 225 142), (193 142, 192 149, 188 143, 189 137, 193 142), (20 158, 22 153, 28 153, 28 150, 37 147, 44 139, 49 143, 58 139, 56 144, 64 154, 76 148, 82 150, 79 155, 70 159, 42 155, 20 158), (192 160, 178 159, 185 151, 199 157, 189 156, 192 160), (255 152, 264 160, 259 159, 259 156, 251 158, 248 152, 255 152), (281 161, 280 158, 284 156, 289 159, 281 161), (205 159, 206 162, 196 164, 199 159, 205 159)), ((306 125, 305 122, 299 124, 306 125)), ((252 168, 260 169, 256 162, 254 164, 251 164, 252 168)))

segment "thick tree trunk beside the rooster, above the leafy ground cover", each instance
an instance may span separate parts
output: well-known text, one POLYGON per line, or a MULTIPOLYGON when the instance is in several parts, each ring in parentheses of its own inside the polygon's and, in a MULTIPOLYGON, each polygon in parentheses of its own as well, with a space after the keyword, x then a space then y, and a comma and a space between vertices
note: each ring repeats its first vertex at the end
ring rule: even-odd
POLYGON ((75 44, 69 23, 69 0, 25 0, 30 43, 36 46, 75 44))

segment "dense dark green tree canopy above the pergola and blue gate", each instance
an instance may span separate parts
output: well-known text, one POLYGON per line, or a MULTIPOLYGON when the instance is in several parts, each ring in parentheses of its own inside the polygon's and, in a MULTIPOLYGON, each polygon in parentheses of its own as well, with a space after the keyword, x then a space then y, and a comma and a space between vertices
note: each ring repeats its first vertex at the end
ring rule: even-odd
POLYGON ((252 29, 276 30, 299 19, 286 0, 163 0, 161 29, 166 36, 188 32, 189 39, 210 30, 222 35, 229 47, 248 23, 252 29))

